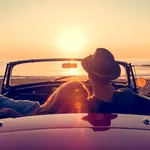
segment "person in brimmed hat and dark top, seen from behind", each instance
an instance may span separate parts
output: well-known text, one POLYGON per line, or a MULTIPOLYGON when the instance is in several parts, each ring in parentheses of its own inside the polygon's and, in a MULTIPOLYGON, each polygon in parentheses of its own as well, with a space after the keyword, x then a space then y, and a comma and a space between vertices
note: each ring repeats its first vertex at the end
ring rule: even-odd
POLYGON ((133 92, 130 89, 116 92, 111 85, 111 80, 120 76, 121 69, 109 50, 96 49, 93 55, 82 60, 81 65, 88 73, 93 89, 89 100, 90 112, 133 113, 133 92))

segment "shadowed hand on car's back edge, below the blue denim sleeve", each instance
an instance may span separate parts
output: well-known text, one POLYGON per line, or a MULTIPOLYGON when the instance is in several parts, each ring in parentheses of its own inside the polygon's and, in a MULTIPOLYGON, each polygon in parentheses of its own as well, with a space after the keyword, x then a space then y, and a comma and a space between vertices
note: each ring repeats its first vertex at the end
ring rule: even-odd
POLYGON ((2 108, 0 109, 0 118, 16 118, 22 117, 23 115, 11 108, 2 108))

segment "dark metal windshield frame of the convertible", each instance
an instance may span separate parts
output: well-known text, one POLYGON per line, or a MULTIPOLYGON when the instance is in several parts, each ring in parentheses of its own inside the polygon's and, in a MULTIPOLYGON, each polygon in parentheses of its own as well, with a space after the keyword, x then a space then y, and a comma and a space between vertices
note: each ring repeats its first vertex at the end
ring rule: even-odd
MULTIPOLYGON (((11 83, 11 77, 12 77, 12 70, 14 66, 19 65, 19 64, 24 64, 24 63, 36 63, 36 62, 48 62, 48 61, 81 61, 82 58, 46 58, 46 59, 28 59, 28 60, 19 60, 19 61, 12 61, 7 63, 5 74, 4 74, 4 80, 2 84, 2 90, 1 94, 8 92, 10 88, 13 86, 10 85, 11 83)), ((127 78, 127 86, 129 88, 132 88, 134 92, 138 92, 136 82, 135 82, 135 77, 134 77, 134 72, 132 70, 132 65, 127 62, 123 61, 117 61, 121 66, 124 67, 125 72, 126 72, 126 78, 127 78)))

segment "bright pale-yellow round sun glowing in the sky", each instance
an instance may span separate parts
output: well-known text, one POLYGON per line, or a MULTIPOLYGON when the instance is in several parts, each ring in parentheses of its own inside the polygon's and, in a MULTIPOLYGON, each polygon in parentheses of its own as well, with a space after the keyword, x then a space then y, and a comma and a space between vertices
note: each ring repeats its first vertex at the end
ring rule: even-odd
POLYGON ((86 44, 86 38, 81 31, 68 29, 58 36, 59 47, 66 52, 79 52, 86 44))

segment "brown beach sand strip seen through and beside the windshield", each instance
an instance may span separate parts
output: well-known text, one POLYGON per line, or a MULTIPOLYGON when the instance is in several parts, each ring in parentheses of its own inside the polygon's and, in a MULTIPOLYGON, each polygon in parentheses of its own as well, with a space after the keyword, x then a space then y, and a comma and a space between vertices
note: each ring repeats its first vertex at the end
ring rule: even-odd
MULTIPOLYGON (((49 79, 48 78, 46 78, 46 80, 48 81, 49 79)), ((23 78, 23 79, 14 79, 14 83, 17 83, 17 84, 24 84, 24 83, 33 83, 33 82, 38 82, 38 81, 40 81, 40 82, 44 82, 44 81, 46 81, 45 80, 45 78, 32 78, 32 80, 30 79, 29 80, 29 78, 23 78)), ((146 96, 149 96, 150 97, 150 78, 147 78, 146 79, 146 81, 147 81, 147 84, 146 84, 146 86, 145 87, 143 87, 143 88, 139 88, 139 92, 140 92, 140 94, 143 94, 143 95, 146 95, 146 96)), ((3 82, 3 80, 2 79, 0 79, 0 91, 1 91, 1 87, 2 87, 2 82, 3 82)))

